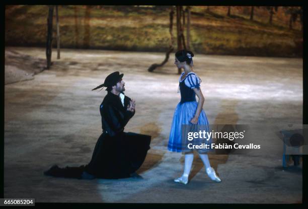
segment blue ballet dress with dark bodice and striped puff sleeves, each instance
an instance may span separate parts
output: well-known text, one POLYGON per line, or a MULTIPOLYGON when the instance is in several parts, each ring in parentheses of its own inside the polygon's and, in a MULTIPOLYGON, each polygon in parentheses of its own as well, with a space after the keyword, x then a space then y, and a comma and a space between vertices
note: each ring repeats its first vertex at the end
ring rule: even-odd
MULTIPOLYGON (((169 135, 168 150, 172 152, 183 152, 183 150, 186 150, 185 152, 187 152, 187 147, 184 148, 185 145, 182 142, 182 124, 192 124, 189 121, 194 117, 198 106, 198 102, 196 101, 196 94, 193 88, 199 89, 201 80, 195 73, 190 72, 181 81, 183 74, 184 72, 179 79, 181 101, 178 103, 175 109, 169 135)), ((203 109, 201 110, 197 124, 205 125, 206 131, 209 131, 208 120, 203 109)), ((209 144, 210 141, 211 140, 209 140, 206 144, 209 144)), ((198 150, 198 152, 202 153, 207 151, 209 150, 198 150)))

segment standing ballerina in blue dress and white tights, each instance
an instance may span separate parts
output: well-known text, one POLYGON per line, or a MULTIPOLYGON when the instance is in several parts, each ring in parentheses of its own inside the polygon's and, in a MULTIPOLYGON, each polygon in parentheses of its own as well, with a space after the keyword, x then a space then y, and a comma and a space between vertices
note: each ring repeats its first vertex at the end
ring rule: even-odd
MULTIPOLYGON (((208 127, 208 120, 202 109, 204 97, 200 89, 200 78, 193 72, 194 54, 188 50, 180 50, 175 54, 175 65, 178 68, 183 68, 184 72, 179 79, 179 88, 181 92, 181 101, 175 109, 171 131, 169 136, 168 150, 172 152, 182 152, 182 125, 198 124, 208 127), (198 102, 196 102, 196 95, 198 102)), ((208 128, 207 128, 208 129, 208 128)), ((220 182, 220 178, 216 175, 214 169, 210 166, 208 156, 205 154, 208 150, 198 150, 198 154, 205 166, 207 175, 216 182, 220 182)), ((193 163, 194 155, 185 154, 184 172, 183 175, 175 182, 187 184, 188 176, 193 163)))

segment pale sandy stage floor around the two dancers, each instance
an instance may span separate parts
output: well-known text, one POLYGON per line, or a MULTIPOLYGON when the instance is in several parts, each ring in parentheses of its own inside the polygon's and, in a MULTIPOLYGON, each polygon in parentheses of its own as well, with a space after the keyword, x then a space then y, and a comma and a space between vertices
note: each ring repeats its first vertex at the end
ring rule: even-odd
MULTIPOLYGON (((13 75, 14 67, 25 71, 23 66, 41 72, 44 48, 6 51, 12 55, 6 60, 6 73, 13 75), (16 53, 27 56, 15 59, 16 53)), ((266 154, 210 154, 221 183, 207 177, 197 156, 190 183, 173 182, 183 170, 181 153, 167 151, 180 99, 173 57, 149 73, 147 68, 160 63, 164 53, 62 49, 61 59, 55 59, 56 50, 52 55, 50 70, 5 85, 5 197, 37 202, 301 202, 301 166, 282 170, 282 145, 270 139, 268 145, 277 146, 266 154), (114 71, 124 73, 125 94, 136 100, 136 114, 125 130, 152 136, 151 149, 138 170, 144 179, 44 176, 53 164, 78 166, 90 161, 102 131, 99 105, 106 95, 91 89, 114 71)), ((210 124, 302 123, 302 59, 196 54, 194 71, 202 80, 203 109, 210 124)), ((260 134, 263 140, 266 137, 269 134, 260 134)))

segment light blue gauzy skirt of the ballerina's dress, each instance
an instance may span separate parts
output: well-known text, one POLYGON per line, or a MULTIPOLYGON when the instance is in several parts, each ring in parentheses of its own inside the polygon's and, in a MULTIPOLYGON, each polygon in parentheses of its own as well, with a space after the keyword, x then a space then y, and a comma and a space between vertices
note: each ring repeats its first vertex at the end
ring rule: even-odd
MULTIPOLYGON (((172 152, 183 152, 183 144, 182 144, 182 125, 191 125, 189 122, 195 115, 197 110, 198 103, 196 101, 193 102, 184 102, 179 103, 175 109, 170 135, 169 135, 169 143, 168 150, 172 152)), ((198 125, 206 125, 206 131, 209 131, 208 120, 205 115, 204 110, 201 110, 198 119, 198 125)), ((206 144, 209 144, 211 140, 207 141, 206 144)), ((210 149, 202 149, 198 150, 202 153, 210 151, 210 149)))

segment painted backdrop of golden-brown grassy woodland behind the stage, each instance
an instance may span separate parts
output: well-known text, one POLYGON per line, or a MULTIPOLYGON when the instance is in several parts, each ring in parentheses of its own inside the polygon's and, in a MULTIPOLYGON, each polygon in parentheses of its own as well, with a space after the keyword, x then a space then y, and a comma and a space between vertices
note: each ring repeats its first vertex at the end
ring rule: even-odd
MULTIPOLYGON (((176 10, 175 6, 58 6, 61 48, 166 52, 177 44, 176 10)), ((196 53, 302 56, 301 7, 182 6, 181 12, 183 44, 196 53)), ((7 5, 6 46, 45 47, 47 16, 48 6, 7 5)), ((55 18, 54 12, 54 24, 55 18)), ((56 47, 55 26, 53 37, 56 47)))

